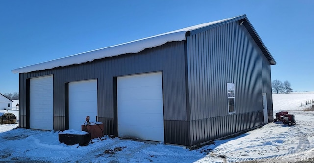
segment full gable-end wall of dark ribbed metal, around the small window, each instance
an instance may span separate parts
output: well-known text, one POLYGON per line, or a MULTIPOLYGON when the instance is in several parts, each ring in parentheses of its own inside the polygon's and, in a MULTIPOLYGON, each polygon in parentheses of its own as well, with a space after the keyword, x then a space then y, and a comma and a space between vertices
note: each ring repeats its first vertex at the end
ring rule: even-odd
POLYGON ((262 93, 272 115, 270 63, 244 25, 191 34, 187 66, 191 145, 262 125, 262 93), (228 113, 227 83, 235 83, 235 114, 228 113))

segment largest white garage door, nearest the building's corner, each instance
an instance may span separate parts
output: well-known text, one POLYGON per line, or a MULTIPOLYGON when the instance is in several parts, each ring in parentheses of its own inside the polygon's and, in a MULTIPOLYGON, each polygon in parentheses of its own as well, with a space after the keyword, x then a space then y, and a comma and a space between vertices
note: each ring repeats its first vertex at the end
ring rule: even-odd
POLYGON ((118 136, 164 141, 162 74, 117 78, 118 136))

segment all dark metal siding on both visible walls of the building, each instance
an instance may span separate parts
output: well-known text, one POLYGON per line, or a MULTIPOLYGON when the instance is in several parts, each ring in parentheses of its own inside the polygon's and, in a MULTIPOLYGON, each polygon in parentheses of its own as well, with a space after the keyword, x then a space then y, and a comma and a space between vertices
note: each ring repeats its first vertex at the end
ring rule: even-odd
POLYGON ((270 63, 236 21, 136 54, 20 74, 20 127, 29 118, 27 79, 53 74, 55 130, 66 129, 66 83, 97 79, 99 120, 116 135, 115 77, 155 71, 163 75, 166 143, 193 146, 262 125, 262 93, 273 118, 270 63), (235 114, 228 114, 227 83, 235 83, 235 114))

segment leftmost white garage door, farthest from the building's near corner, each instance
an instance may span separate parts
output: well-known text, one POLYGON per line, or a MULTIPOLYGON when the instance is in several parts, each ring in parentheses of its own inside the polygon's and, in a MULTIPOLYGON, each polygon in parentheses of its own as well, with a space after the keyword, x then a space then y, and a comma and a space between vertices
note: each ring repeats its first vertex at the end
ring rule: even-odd
POLYGON ((53 75, 30 79, 29 111, 30 128, 53 130, 53 75))

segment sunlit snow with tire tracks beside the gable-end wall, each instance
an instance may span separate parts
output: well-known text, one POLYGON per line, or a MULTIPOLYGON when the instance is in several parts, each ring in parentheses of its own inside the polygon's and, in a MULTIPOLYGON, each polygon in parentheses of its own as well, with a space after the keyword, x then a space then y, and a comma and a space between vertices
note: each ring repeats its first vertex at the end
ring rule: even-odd
MULTIPOLYGON (((295 126, 286 126, 281 122, 269 123, 235 138, 215 141, 214 145, 203 149, 209 149, 211 156, 225 156, 225 161, 229 162, 261 160, 282 163, 309 160, 314 157, 314 112, 289 113, 296 115, 295 126)), ((199 162, 211 160, 206 156, 199 162)))

